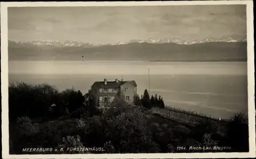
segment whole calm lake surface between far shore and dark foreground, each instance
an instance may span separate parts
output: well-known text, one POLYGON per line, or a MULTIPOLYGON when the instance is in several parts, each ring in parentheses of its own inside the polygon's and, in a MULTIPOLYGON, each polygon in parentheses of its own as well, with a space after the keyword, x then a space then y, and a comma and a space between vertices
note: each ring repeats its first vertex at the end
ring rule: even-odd
POLYGON ((246 62, 9 61, 9 82, 48 83, 88 92, 94 81, 135 80, 166 105, 229 118, 248 111, 246 62))

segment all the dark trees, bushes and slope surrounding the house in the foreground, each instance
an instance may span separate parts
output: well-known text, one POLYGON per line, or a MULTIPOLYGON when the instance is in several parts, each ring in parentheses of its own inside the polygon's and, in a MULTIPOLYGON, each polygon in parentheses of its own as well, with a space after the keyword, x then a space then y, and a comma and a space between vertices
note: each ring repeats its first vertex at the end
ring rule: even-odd
MULTIPOLYGON (((163 99, 157 96, 150 98, 146 90, 142 97, 136 96, 133 105, 128 105, 119 95, 110 103, 109 109, 99 109, 93 98, 90 99, 89 106, 83 105, 83 102, 84 98, 79 90, 58 92, 47 84, 11 83, 10 154, 249 150, 248 122, 241 113, 222 124, 225 131, 219 131, 221 124, 217 124, 216 120, 199 118, 199 115, 195 117, 193 113, 189 116, 189 112, 183 112, 185 116, 164 116, 159 113, 166 109, 163 99), (56 104, 56 109, 49 111, 53 103, 56 104), (153 111, 155 109, 159 112, 153 111), (184 118, 194 119, 193 124, 186 122, 184 118), (65 151, 71 147, 92 149, 65 151), (53 148, 53 151, 23 152, 24 148, 53 148), (54 151, 60 148, 64 151, 54 151)), ((172 114, 174 112, 178 111, 169 111, 172 114)))

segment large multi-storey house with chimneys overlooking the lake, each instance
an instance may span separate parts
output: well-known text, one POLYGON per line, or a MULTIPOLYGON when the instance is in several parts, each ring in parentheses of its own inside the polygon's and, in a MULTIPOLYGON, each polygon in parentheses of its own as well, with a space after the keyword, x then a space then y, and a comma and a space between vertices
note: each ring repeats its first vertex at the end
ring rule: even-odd
POLYGON ((137 84, 135 81, 104 79, 94 82, 88 94, 95 97, 100 107, 108 106, 118 94, 122 95, 128 104, 132 104, 137 94, 137 84))

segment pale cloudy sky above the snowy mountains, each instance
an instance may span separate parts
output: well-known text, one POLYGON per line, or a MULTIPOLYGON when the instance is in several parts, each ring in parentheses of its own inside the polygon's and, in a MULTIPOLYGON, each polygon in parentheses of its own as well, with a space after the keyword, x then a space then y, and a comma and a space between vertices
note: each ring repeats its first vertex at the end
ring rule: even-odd
POLYGON ((245 5, 11 7, 9 40, 91 43, 246 34, 245 5))

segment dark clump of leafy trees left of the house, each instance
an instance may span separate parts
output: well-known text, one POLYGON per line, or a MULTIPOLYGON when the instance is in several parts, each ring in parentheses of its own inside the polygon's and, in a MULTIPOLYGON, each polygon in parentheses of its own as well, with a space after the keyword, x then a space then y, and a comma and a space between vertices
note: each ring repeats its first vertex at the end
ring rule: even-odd
POLYGON ((84 97, 80 90, 66 89, 62 92, 49 84, 10 83, 9 85, 9 118, 60 117, 80 108, 84 97), (56 104, 56 110, 49 112, 51 104, 56 104), (66 109, 68 108, 68 110, 66 109))

